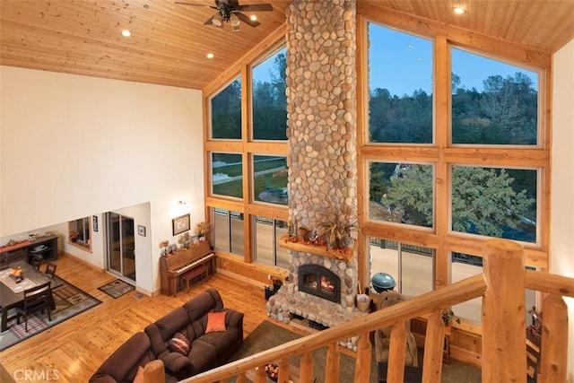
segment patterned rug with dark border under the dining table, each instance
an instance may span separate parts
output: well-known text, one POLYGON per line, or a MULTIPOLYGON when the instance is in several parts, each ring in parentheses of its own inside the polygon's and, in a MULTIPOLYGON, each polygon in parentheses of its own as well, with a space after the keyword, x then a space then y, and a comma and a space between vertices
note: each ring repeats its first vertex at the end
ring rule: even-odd
POLYGON ((73 284, 67 283, 62 278, 57 278, 57 281, 57 287, 52 289, 52 295, 56 303, 56 309, 51 311, 52 320, 48 321, 48 312, 33 314, 28 317, 28 332, 26 332, 23 319, 18 325, 15 312, 9 312, 8 318, 14 318, 8 321, 8 329, 0 334, 0 351, 101 303, 100 300, 95 299, 87 292, 83 292, 73 284))

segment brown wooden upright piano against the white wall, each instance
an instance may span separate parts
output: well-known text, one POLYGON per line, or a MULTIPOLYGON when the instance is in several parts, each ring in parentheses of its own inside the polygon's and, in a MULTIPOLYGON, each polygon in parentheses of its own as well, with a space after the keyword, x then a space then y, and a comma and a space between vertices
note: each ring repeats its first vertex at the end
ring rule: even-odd
POLYGON ((215 270, 215 255, 209 242, 199 242, 189 248, 182 248, 173 254, 160 257, 161 293, 175 296, 181 290, 180 278, 197 267, 207 266, 207 273, 215 270))

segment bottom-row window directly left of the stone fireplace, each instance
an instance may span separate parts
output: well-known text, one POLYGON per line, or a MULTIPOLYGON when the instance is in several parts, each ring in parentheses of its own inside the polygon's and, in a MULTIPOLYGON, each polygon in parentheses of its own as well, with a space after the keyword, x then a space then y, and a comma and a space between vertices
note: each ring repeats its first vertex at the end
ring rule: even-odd
POLYGON ((255 220, 255 258, 258 263, 277 265, 289 269, 290 257, 287 248, 279 247, 279 239, 287 235, 287 222, 260 215, 255 220))

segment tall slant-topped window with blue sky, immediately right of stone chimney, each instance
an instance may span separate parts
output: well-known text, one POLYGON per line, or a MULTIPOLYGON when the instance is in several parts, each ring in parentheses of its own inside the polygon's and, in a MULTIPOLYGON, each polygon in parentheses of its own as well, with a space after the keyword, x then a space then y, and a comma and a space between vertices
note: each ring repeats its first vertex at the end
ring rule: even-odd
POLYGON ((369 24, 369 141, 432 143, 432 42, 369 24))

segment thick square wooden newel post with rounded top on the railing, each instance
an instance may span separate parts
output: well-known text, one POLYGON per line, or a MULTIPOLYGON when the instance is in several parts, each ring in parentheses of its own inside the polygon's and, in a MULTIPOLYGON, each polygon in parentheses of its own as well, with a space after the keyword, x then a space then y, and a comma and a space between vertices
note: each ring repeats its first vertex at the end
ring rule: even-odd
POLYGON ((525 267, 522 248, 491 239, 483 248, 483 382, 526 382, 525 267))

